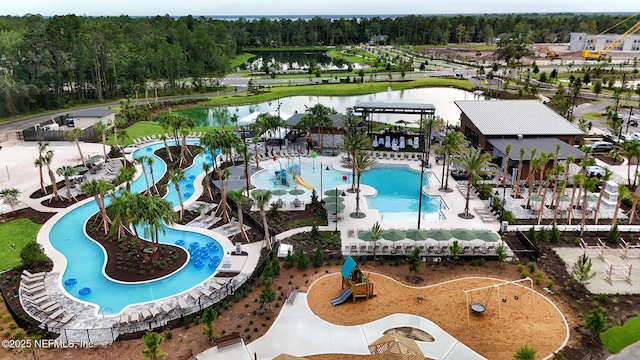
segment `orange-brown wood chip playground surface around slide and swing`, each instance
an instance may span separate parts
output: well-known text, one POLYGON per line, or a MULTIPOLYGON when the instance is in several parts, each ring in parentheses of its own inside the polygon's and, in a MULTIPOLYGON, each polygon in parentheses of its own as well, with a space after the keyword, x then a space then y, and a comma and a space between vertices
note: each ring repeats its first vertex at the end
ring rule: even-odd
POLYGON ((311 311, 323 320, 345 326, 364 324, 396 313, 418 315, 433 321, 492 360, 513 359, 513 353, 524 345, 536 348, 537 358, 542 359, 558 350, 569 336, 563 315, 551 302, 529 288, 512 284, 500 286, 499 295, 495 287, 472 292, 470 303, 481 303, 486 311, 483 314, 470 312, 467 322, 463 290, 502 283, 503 280, 474 277, 414 288, 380 274, 365 272, 365 275, 371 277, 376 297, 357 299, 355 303, 348 300, 332 306, 331 298, 341 292, 340 274, 332 274, 317 280, 308 290, 311 311), (421 301, 418 296, 422 296, 421 301))

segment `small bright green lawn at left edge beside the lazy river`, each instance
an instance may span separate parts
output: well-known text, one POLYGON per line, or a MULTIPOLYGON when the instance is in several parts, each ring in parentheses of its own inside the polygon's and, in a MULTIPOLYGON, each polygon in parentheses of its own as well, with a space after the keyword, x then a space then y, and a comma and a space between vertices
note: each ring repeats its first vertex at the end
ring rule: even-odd
POLYGON ((36 240, 36 235, 42 225, 34 224, 29 219, 18 219, 0 224, 0 271, 19 266, 20 250, 30 241, 36 240), (16 245, 16 249, 11 248, 16 245))

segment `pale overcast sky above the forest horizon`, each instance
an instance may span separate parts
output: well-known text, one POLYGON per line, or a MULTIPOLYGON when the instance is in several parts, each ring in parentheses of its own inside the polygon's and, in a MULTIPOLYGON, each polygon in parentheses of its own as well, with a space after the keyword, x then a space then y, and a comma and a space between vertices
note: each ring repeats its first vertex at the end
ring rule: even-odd
POLYGON ((640 12, 638 0, 0 0, 0 15, 383 15, 640 12))

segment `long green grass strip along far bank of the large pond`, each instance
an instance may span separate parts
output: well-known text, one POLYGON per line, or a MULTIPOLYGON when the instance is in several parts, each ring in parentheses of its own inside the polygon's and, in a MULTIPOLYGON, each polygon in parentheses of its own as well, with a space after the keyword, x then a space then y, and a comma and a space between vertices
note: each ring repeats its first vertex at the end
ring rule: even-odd
POLYGON ((289 96, 352 96, 362 94, 372 94, 391 90, 404 90, 427 86, 454 86, 465 90, 473 89, 473 85, 466 80, 421 78, 411 79, 405 82, 376 82, 364 84, 326 84, 326 85, 302 85, 274 87, 270 91, 259 95, 248 95, 246 92, 238 95, 220 96, 212 98, 207 102, 200 103, 202 106, 229 106, 265 102, 289 96))

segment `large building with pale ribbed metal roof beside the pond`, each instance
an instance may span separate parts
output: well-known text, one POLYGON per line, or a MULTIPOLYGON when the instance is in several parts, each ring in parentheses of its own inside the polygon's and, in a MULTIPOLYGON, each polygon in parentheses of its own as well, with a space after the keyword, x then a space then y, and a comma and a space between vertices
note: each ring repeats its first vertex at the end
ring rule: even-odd
POLYGON ((583 152, 573 147, 585 133, 537 100, 454 101, 460 108, 460 131, 476 148, 491 153, 508 172, 517 168, 520 149, 525 150, 523 176, 529 174, 531 149, 554 153, 560 145, 559 160, 575 159, 583 152), (505 149, 511 144, 509 159, 505 149))

